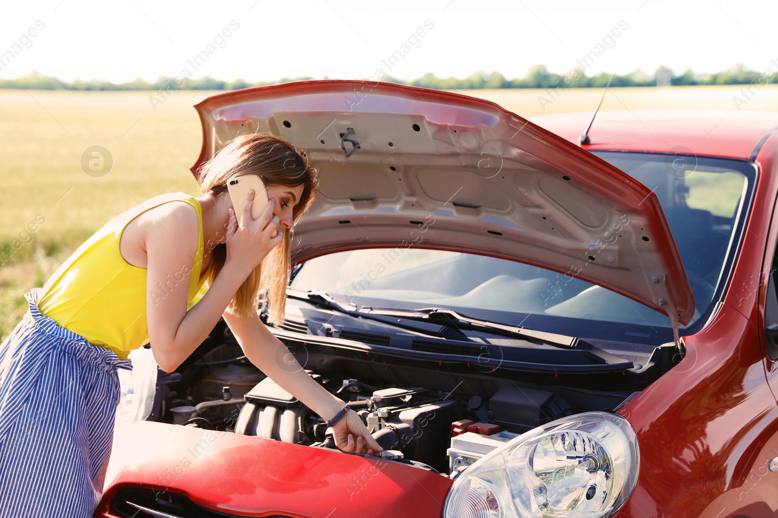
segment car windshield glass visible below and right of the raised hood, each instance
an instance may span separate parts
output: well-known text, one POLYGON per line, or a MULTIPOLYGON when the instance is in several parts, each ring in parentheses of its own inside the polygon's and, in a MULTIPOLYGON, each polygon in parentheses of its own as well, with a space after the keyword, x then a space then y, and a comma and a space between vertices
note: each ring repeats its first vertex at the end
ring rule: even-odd
MULTIPOLYGON (((755 184, 755 167, 731 159, 594 152, 659 199, 689 277, 701 327, 726 284, 755 184)), ((515 261, 444 250, 374 248, 303 264, 292 289, 356 306, 441 307, 471 317, 606 341, 672 340, 664 314, 609 289, 515 261)))

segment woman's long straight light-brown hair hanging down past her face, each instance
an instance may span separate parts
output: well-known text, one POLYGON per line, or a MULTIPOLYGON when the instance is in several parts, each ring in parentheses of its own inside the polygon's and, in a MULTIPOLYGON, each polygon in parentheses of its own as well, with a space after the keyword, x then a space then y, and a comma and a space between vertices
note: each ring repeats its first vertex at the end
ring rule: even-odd
MULTIPOLYGON (((257 174, 265 187, 303 184, 303 194, 292 213, 295 221, 313 203, 319 186, 317 170, 308 164, 305 152, 299 151, 284 138, 264 133, 240 135, 225 145, 200 167, 198 183, 204 194, 218 195, 227 191, 230 178, 244 174, 257 174)), ((283 229, 281 245, 275 247, 240 285, 227 306, 230 313, 249 315, 257 310, 260 303, 265 309, 269 301, 268 321, 274 325, 283 322, 292 261, 290 233, 291 229, 283 229)), ((209 267, 209 285, 219 275, 225 260, 225 245, 216 245, 209 267)))

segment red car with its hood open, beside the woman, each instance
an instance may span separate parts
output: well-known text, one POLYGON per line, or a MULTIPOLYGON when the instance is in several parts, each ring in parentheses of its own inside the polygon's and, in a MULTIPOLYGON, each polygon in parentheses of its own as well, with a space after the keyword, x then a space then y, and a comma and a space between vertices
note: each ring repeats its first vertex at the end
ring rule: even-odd
POLYGON ((319 169, 273 332, 387 451, 336 450, 222 323, 176 373, 137 352, 96 516, 776 516, 778 114, 580 139, 355 81, 197 110, 193 171, 247 131, 319 169))

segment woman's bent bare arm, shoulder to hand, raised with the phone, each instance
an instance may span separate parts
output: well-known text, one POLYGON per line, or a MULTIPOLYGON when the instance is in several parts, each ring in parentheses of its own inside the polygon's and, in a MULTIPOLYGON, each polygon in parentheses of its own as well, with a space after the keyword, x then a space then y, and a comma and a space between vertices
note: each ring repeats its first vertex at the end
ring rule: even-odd
POLYGON ((189 311, 187 292, 192 257, 197 252, 197 214, 189 207, 176 208, 143 229, 148 261, 146 320, 154 359, 164 371, 173 372, 205 340, 249 273, 283 239, 282 233, 270 237, 278 223, 272 215, 275 200, 256 220, 250 215, 252 200, 250 194, 240 226, 230 209, 225 264, 205 296, 189 311))

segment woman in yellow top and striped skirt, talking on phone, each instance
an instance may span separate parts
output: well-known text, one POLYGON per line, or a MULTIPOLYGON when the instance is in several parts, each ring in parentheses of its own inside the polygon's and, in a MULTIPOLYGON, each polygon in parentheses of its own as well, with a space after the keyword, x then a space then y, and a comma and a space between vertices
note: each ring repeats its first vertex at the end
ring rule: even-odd
POLYGON ((172 372, 222 316, 254 365, 330 420, 339 448, 380 451, 343 401, 276 361, 286 348, 258 317, 264 278, 269 320, 283 320, 289 233, 314 199, 317 171, 282 138, 241 135, 199 183, 200 198, 167 194, 118 215, 26 294, 30 311, 0 346, 0 518, 91 516, 128 352, 150 340, 172 372), (267 186, 257 220, 253 191, 235 208, 227 193, 227 180, 244 174, 267 186), (203 282, 208 292, 187 310, 203 282))

